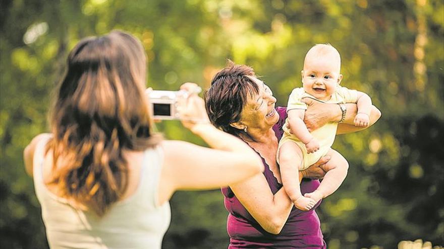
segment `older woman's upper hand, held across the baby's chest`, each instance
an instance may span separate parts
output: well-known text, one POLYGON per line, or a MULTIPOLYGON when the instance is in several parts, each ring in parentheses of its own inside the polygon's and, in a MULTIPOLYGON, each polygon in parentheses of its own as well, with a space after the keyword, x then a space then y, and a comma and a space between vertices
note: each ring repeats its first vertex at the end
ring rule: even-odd
POLYGON ((302 102, 307 104, 304 123, 310 132, 322 127, 327 122, 341 120, 342 111, 337 104, 325 104, 311 98, 304 98, 302 102))

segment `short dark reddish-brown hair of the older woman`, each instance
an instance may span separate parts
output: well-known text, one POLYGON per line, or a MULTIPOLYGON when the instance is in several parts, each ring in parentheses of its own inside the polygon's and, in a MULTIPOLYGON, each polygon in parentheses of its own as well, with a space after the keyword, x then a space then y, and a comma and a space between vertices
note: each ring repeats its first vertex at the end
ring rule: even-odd
POLYGON ((242 130, 230 124, 241 119, 242 109, 247 104, 247 94, 254 96, 259 93, 253 68, 237 65, 228 60, 228 65, 218 71, 211 79, 211 87, 204 94, 206 111, 211 123, 233 135, 242 130))

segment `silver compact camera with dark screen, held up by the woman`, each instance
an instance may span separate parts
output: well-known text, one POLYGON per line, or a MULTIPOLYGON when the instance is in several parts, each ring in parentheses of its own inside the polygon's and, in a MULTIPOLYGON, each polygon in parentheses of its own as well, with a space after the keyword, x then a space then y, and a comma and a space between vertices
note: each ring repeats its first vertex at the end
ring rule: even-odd
MULTIPOLYGON (((201 88, 197 87, 193 92, 200 93, 201 88)), ((178 100, 188 98, 189 92, 153 90, 146 92, 149 95, 151 113, 154 119, 175 120, 179 119, 178 100)))

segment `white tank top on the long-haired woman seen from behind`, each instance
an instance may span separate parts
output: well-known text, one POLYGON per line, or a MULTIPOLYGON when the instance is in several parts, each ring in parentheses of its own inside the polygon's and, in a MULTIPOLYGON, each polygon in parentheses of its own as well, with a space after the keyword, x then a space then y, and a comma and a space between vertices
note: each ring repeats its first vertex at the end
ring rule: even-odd
POLYGON ((34 154, 34 187, 42 208, 51 248, 161 248, 170 220, 170 204, 155 205, 163 153, 160 146, 144 152, 140 182, 133 195, 110 207, 103 217, 74 208, 49 192, 43 183, 44 145, 34 154))

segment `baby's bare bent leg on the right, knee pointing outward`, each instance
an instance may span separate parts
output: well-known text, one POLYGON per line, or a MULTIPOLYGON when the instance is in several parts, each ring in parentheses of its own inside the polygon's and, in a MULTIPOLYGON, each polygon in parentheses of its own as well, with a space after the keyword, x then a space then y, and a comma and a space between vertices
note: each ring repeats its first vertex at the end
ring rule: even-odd
POLYGON ((341 186, 349 169, 349 163, 338 151, 330 149, 327 155, 331 156, 331 159, 324 165, 323 170, 327 173, 321 185, 319 185, 317 190, 304 195, 305 197, 312 198, 316 203, 320 199, 334 193, 341 186))

